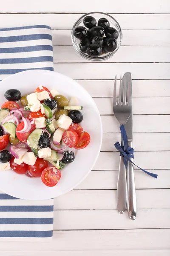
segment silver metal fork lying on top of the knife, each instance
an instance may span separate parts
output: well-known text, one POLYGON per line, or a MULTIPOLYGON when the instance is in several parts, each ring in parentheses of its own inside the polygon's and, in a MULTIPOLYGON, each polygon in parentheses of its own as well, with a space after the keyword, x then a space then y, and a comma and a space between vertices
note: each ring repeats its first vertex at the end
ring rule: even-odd
MULTIPOLYGON (((114 81, 113 90, 113 112, 120 125, 125 125, 127 119, 131 113, 130 105, 130 88, 126 86, 125 76, 120 76, 120 87, 119 87, 119 99, 116 100, 116 77, 114 81)), ((121 138, 121 146, 123 146, 123 140, 121 138)), ((124 213, 127 203, 127 181, 126 181, 126 168, 123 161, 123 157, 120 157, 119 162, 119 175, 117 182, 117 209, 119 213, 124 213)))

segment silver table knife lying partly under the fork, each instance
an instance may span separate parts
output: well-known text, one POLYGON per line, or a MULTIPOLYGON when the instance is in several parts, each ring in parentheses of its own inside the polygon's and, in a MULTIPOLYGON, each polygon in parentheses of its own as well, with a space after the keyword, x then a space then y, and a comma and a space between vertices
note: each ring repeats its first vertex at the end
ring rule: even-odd
MULTIPOLYGON (((130 86, 130 97, 132 102, 132 79, 131 73, 125 73, 125 85, 130 86), (128 83, 128 84, 127 84, 128 83)), ((128 88, 128 87, 127 87, 128 88)), ((128 147, 133 148, 133 114, 132 114, 132 104, 131 113, 127 122, 125 124, 125 129, 127 133, 128 147)), ((133 162, 133 158, 130 157, 133 162)), ((135 189, 135 177, 133 164, 127 161, 127 212, 129 218, 134 221, 136 219, 137 205, 136 205, 136 189, 135 189)))

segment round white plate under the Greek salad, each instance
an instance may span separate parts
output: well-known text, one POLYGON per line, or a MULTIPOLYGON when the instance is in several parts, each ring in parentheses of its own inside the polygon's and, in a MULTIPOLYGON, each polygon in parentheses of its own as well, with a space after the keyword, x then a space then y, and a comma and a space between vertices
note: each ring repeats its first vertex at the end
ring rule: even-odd
POLYGON ((54 187, 45 186, 41 178, 29 178, 12 170, 0 172, 0 190, 16 198, 45 200, 62 195, 74 189, 93 168, 102 143, 102 123, 99 111, 88 92, 76 81, 59 73, 46 70, 28 70, 9 76, 0 82, 0 105, 6 101, 4 93, 8 89, 18 89, 21 95, 33 93, 43 85, 49 90, 56 89, 62 95, 76 96, 83 106, 82 127, 91 135, 87 148, 75 152, 75 160, 62 169, 62 177, 54 187))

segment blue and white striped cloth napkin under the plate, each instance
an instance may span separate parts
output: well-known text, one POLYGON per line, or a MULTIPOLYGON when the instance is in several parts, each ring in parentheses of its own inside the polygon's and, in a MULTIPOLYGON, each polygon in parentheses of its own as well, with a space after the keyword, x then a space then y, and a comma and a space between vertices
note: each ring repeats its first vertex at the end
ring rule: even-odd
MULTIPOLYGON (((32 69, 54 70, 51 28, 0 29, 0 81, 32 69)), ((53 208, 53 199, 27 201, 0 192, 0 241, 49 239, 53 234, 53 208)))

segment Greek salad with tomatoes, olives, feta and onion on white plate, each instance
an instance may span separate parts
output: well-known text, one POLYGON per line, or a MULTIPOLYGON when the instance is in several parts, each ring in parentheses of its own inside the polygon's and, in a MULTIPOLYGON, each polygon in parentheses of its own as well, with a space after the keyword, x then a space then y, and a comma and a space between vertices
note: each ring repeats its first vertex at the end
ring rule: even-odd
POLYGON ((61 169, 75 159, 69 148, 79 150, 90 143, 80 125, 83 107, 76 97, 68 100, 42 85, 28 95, 10 89, 4 96, 8 101, 0 109, 0 171, 12 169, 55 186, 61 169))

